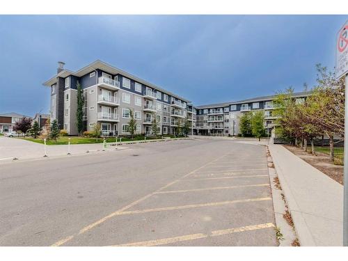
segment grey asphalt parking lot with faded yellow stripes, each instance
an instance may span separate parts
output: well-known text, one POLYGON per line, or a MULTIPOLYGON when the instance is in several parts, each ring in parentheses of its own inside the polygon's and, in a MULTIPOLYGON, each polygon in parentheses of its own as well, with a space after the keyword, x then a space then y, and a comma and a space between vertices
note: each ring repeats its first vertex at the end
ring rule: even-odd
POLYGON ((228 139, 1 165, 1 246, 276 246, 266 148, 228 139))

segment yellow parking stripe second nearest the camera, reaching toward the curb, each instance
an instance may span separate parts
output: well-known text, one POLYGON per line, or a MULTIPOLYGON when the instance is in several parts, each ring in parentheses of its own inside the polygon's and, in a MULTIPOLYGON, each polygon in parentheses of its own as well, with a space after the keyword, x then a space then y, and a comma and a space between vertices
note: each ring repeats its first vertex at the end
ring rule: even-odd
POLYGON ((213 202, 213 203, 182 205, 182 206, 175 206, 175 207, 157 207, 157 208, 150 208, 150 209, 139 209, 139 210, 120 212, 119 215, 140 214, 140 213, 148 213, 148 212, 160 212, 160 211, 166 211, 166 210, 188 209, 188 208, 196 208, 196 207, 212 207, 212 206, 228 205, 228 204, 235 204, 235 203, 246 203, 246 202, 262 201, 262 200, 271 200, 271 198, 246 198, 246 199, 240 199, 240 200, 230 200, 230 201, 221 201, 221 202, 213 202))

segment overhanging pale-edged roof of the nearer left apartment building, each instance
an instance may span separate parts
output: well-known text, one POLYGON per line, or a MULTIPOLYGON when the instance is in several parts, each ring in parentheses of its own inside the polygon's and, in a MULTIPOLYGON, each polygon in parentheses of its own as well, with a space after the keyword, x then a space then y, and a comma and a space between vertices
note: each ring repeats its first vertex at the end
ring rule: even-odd
POLYGON ((143 79, 140 79, 139 77, 136 77, 132 74, 129 74, 128 72, 125 72, 124 70, 121 70, 119 68, 116 68, 112 65, 109 65, 108 63, 104 63, 103 61, 97 60, 94 61, 93 63, 90 63, 89 65, 85 66, 84 68, 81 68, 80 70, 78 70, 77 72, 72 72, 70 70, 63 70, 61 72, 59 72, 58 74, 56 74, 54 77, 52 77, 51 79, 45 81, 43 83, 44 86, 48 86, 51 87, 52 84, 56 83, 56 78, 57 77, 63 77, 66 78, 70 75, 74 75, 76 77, 82 77, 85 74, 88 74, 91 70, 96 70, 96 69, 100 69, 103 70, 104 72, 109 72, 109 74, 122 74, 125 77, 129 78, 129 79, 133 79, 134 81, 138 81, 141 84, 144 84, 145 86, 149 86, 151 88, 155 88, 156 90, 161 91, 162 93, 166 93, 168 95, 171 95, 177 99, 183 100, 184 102, 191 102, 183 97, 180 97, 179 95, 176 95, 175 93, 171 93, 168 90, 165 90, 164 88, 161 88, 159 86, 156 86, 155 84, 151 84, 148 81, 145 81, 143 79))

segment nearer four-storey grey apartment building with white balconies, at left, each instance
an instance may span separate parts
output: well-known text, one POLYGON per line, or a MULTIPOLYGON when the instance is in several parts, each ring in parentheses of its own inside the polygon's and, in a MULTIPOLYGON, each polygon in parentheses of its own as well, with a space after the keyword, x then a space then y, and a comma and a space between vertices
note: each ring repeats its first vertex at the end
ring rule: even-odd
POLYGON ((178 122, 192 118, 190 101, 155 84, 135 77, 102 61, 76 72, 58 63, 57 74, 44 83, 51 88, 51 120, 61 129, 77 135, 77 84, 84 91, 84 129, 92 131, 100 123, 104 136, 129 135, 130 110, 134 111, 137 134, 152 134, 154 117, 159 134, 175 134, 178 122))

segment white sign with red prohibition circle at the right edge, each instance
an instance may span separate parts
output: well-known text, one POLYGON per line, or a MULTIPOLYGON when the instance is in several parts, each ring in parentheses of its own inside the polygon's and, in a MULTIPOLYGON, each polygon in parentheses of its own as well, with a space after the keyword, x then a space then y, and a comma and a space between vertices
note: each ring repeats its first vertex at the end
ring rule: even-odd
POLYGON ((348 73, 348 21, 340 29, 336 39, 336 79, 348 73))

